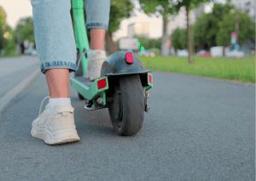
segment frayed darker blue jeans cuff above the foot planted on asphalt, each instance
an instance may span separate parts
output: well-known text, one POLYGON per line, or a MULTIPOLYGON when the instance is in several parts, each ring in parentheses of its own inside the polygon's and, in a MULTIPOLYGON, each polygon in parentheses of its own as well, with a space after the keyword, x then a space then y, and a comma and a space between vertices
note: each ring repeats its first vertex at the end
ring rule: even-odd
POLYGON ((54 60, 54 61, 46 61, 40 65, 41 72, 45 74, 45 71, 49 69, 69 69, 69 73, 73 71, 77 71, 77 65, 75 65, 71 61, 62 61, 62 60, 54 60))

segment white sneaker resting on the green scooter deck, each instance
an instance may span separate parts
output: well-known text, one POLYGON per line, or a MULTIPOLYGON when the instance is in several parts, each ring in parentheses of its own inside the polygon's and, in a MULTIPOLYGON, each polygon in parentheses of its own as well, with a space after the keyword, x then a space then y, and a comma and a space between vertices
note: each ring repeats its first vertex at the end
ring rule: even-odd
POLYGON ((95 81, 101 77, 102 64, 107 59, 104 50, 90 50, 88 54, 88 66, 85 78, 95 81))

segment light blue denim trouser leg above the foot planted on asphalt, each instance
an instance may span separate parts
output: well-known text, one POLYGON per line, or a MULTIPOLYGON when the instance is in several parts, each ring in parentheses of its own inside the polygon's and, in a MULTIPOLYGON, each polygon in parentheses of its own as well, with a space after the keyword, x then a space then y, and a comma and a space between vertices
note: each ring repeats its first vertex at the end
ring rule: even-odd
POLYGON ((41 71, 66 68, 77 71, 76 43, 70 0, 32 0, 35 41, 41 71))

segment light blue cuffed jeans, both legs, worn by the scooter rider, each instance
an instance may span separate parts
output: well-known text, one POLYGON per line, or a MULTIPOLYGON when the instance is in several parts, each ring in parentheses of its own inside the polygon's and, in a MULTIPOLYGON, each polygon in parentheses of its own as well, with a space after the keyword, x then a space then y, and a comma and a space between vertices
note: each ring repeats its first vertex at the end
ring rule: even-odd
MULTIPOLYGON (((34 35, 41 72, 67 68, 77 71, 76 43, 70 15, 71 0, 32 0, 34 35)), ((108 31, 110 0, 84 0, 86 30, 108 31)))

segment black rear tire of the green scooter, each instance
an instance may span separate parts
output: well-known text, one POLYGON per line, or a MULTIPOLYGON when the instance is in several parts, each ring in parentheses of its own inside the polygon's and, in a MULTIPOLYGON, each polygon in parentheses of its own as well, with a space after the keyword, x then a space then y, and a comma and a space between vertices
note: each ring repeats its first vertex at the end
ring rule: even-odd
POLYGON ((138 75, 119 78, 114 87, 113 102, 108 105, 114 131, 122 136, 138 133, 143 127, 144 97, 142 82, 138 75))

